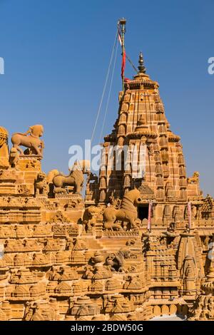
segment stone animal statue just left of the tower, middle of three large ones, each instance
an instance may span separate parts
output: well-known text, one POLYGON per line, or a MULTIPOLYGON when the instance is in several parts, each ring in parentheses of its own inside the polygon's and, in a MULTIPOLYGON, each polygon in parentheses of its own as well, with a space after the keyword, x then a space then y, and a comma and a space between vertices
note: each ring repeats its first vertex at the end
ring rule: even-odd
POLYGON ((66 194, 67 190, 65 187, 74 186, 74 192, 80 193, 84 182, 83 174, 88 173, 89 168, 90 162, 88 160, 80 160, 74 163, 69 175, 63 175, 62 173, 60 173, 54 176, 54 192, 66 194))

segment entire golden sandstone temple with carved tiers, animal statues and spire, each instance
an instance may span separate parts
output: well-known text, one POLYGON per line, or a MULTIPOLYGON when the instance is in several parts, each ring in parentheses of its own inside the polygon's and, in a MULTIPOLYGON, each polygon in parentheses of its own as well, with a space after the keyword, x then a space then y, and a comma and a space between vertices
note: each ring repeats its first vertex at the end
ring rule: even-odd
POLYGON ((0 320, 214 319, 214 200, 186 175, 142 54, 138 69, 98 176, 88 161, 46 174, 41 125, 11 150, 0 128, 0 320), (135 148, 140 175, 130 155, 110 168, 116 145, 135 148))

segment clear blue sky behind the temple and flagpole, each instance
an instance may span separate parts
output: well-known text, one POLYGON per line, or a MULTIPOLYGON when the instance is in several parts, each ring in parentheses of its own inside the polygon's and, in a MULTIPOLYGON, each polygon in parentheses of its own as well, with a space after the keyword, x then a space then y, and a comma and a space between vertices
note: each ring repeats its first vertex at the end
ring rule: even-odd
MULTIPOLYGON (((214 195, 213 13, 213 0, 0 0, 1 125, 11 135, 43 124, 43 169, 66 172, 69 146, 91 138, 116 21, 124 16, 128 56, 137 63, 143 51, 182 138, 188 174, 198 170, 204 193, 214 195)), ((118 55, 104 134, 117 115, 120 63, 118 55)), ((127 64, 126 76, 133 74, 127 64)))

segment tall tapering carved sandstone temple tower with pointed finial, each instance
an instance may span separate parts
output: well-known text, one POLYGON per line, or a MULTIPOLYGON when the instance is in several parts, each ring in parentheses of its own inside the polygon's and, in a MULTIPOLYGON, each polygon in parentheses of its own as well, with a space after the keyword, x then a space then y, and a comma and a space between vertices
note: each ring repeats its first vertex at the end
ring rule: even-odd
POLYGON ((187 203, 193 200, 197 205, 201 192, 198 180, 188 184, 180 137, 170 130, 158 87, 146 74, 140 53, 138 73, 126 81, 119 95, 118 118, 103 144, 99 202, 108 202, 112 195, 123 197, 137 187, 145 200, 138 208, 141 220, 148 217, 148 204, 153 200, 155 226, 168 227, 174 222, 185 227, 187 203), (128 155, 113 157, 111 148, 116 145, 126 146, 128 155), (117 170, 120 159, 122 168, 117 170))

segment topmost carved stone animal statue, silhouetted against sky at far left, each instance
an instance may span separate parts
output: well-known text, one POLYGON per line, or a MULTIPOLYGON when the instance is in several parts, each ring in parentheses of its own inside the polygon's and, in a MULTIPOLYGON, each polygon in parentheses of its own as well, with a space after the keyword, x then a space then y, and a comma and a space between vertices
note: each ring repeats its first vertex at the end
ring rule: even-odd
POLYGON ((44 149, 44 141, 40 138, 43 133, 43 125, 32 125, 26 133, 14 133, 11 137, 11 142, 13 143, 13 147, 17 148, 21 155, 23 155, 24 152, 19 145, 29 148, 31 154, 41 156, 44 149))

